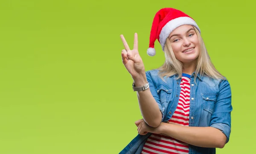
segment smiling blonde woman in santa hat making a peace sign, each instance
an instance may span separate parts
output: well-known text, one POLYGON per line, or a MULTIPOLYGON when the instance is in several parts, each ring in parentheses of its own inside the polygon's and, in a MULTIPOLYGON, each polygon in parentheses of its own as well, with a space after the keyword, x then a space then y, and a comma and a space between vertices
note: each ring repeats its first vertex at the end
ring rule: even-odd
POLYGON ((122 62, 131 74, 143 119, 138 135, 120 154, 215 154, 229 141, 230 84, 213 66, 196 22, 174 8, 160 9, 153 20, 149 56, 160 42, 166 61, 145 72, 137 34, 122 62))

